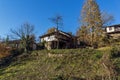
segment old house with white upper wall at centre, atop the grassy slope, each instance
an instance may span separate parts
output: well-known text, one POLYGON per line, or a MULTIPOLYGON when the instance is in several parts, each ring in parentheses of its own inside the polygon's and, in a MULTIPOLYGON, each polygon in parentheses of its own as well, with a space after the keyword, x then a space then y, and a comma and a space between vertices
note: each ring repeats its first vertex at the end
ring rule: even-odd
POLYGON ((44 46, 47 49, 65 49, 76 47, 76 37, 72 34, 55 30, 52 33, 48 33, 40 36, 41 43, 45 43, 44 46))

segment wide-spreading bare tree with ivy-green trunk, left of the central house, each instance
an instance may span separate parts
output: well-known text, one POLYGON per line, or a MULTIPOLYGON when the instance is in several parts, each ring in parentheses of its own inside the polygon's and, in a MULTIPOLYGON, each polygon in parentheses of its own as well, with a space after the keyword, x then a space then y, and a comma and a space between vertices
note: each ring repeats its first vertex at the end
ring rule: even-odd
POLYGON ((24 23, 20 28, 11 32, 19 38, 25 52, 28 52, 30 45, 34 42, 34 26, 29 23, 24 23))

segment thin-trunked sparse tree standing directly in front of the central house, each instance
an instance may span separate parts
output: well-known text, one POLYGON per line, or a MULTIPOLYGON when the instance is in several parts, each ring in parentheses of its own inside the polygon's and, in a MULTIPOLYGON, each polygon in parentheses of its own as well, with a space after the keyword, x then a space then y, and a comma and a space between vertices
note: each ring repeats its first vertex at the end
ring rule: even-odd
POLYGON ((60 28, 60 26, 63 26, 63 18, 61 15, 56 15, 52 18, 49 18, 50 21, 52 21, 55 25, 56 25, 56 29, 57 29, 57 49, 59 48, 59 34, 58 34, 58 29, 60 28))

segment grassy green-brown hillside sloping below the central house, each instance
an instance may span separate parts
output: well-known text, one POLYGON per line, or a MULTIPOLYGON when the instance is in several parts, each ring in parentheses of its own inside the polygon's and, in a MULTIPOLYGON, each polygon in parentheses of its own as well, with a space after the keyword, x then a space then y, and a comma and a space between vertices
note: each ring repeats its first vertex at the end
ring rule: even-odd
POLYGON ((116 80, 119 70, 110 49, 41 50, 16 57, 0 69, 0 80, 116 80))

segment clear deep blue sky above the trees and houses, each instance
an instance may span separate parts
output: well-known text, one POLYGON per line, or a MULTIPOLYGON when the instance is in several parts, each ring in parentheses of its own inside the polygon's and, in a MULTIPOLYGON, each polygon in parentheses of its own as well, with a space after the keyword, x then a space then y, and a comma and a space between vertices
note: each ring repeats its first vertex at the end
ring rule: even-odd
MULTIPOLYGON (((113 24, 120 24, 120 0, 97 0, 100 10, 112 14, 113 24)), ((63 16, 64 26, 60 29, 76 33, 78 18, 84 0, 0 0, 0 36, 10 35, 10 29, 17 29, 29 22, 35 26, 37 36, 54 26, 48 18, 56 14, 63 16)))

